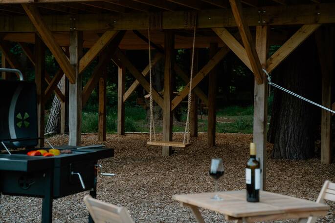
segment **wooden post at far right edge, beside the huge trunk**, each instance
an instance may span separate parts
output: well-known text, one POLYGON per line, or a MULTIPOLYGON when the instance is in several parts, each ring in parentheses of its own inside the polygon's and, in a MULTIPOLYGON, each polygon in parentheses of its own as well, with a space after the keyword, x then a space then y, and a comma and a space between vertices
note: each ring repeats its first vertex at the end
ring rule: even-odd
MULTIPOLYGON (((322 72, 322 105, 332 106, 332 83, 334 75, 334 28, 321 27, 315 33, 322 72)), ((321 163, 332 162, 332 115, 321 109, 321 163)))

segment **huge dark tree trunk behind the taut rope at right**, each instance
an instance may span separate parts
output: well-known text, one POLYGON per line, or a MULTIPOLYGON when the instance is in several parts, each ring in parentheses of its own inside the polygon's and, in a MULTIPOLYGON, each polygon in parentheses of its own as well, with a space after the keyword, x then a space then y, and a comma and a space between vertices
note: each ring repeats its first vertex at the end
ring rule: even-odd
MULTIPOLYGON (((301 44, 274 72, 272 81, 312 101, 320 102, 320 69, 314 38, 301 44)), ((314 156, 314 133, 320 109, 279 89, 274 100, 268 140, 272 158, 302 160, 314 156)))

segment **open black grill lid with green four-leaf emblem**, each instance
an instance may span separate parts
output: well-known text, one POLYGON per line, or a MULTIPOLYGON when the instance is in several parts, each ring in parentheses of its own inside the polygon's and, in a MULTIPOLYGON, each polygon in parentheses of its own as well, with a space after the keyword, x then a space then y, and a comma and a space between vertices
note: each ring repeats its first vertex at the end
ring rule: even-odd
MULTIPOLYGON (((0 141, 8 148, 31 147, 38 144, 37 94, 35 83, 0 80, 0 141)), ((3 145, 0 144, 0 148, 3 145)))

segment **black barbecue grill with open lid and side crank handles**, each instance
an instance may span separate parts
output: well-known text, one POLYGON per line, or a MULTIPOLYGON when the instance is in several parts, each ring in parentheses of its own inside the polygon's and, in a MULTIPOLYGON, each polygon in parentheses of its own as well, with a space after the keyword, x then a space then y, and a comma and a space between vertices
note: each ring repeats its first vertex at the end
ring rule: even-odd
POLYGON ((27 156, 39 140, 36 98, 34 83, 0 80, 0 148, 5 151, 0 153, 0 193, 43 198, 42 223, 50 223, 53 199, 86 190, 96 196, 97 162, 112 157, 114 150, 64 145, 55 147, 72 153, 27 156))

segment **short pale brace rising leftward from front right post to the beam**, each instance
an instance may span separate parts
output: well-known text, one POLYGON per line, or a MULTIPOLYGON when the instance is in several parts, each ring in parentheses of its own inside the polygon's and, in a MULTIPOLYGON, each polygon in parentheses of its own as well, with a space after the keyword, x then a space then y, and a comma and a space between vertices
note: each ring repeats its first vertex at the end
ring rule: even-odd
POLYGON ((250 60, 246 54, 246 49, 241 45, 236 38, 231 35, 225 28, 213 28, 213 31, 220 39, 240 58, 240 60, 252 71, 250 60))

